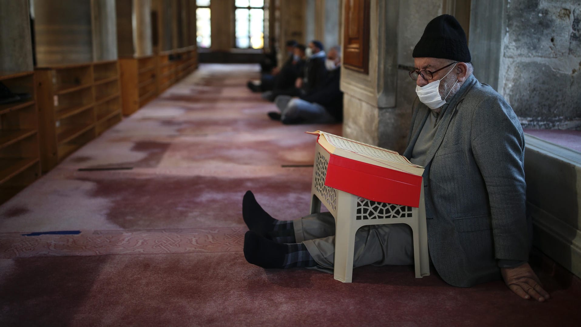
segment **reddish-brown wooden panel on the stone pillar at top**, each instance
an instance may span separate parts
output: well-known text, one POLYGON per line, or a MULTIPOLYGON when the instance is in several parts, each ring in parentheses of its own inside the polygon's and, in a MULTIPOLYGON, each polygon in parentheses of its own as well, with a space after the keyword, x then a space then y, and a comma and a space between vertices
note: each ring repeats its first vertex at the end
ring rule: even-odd
POLYGON ((345 1, 343 66, 369 73, 370 0, 345 1))

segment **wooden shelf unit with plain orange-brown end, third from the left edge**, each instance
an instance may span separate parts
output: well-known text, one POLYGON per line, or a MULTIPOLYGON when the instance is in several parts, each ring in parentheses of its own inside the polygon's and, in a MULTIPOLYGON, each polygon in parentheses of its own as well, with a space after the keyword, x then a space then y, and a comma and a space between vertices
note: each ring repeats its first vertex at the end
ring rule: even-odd
POLYGON ((121 58, 119 64, 123 114, 130 115, 157 96, 156 58, 121 58))

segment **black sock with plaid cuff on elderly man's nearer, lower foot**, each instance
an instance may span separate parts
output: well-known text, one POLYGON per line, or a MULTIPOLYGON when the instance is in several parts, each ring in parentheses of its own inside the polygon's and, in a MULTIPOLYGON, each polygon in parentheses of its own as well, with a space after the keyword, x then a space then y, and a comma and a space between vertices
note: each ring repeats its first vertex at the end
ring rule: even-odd
POLYGON ((314 267, 317 263, 303 243, 279 244, 259 233, 244 235, 244 257, 251 264, 263 268, 314 267))

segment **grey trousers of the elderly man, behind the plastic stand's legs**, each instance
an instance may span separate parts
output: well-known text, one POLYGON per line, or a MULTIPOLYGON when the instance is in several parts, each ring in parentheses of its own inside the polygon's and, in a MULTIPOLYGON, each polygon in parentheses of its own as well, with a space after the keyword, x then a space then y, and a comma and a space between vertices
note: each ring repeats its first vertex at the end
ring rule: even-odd
MULTIPOLYGON (((297 243, 303 243, 317 261, 317 270, 333 272, 335 218, 315 213, 293 221, 297 243)), ((353 267, 414 264, 411 228, 406 224, 368 225, 355 234, 353 267)))

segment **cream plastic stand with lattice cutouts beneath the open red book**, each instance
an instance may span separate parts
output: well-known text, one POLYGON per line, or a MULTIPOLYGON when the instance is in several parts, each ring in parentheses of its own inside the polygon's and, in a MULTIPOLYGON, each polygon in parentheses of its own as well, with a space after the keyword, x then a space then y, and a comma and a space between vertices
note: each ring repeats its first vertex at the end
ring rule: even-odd
POLYGON ((419 208, 374 202, 325 185, 331 155, 316 143, 311 186, 311 214, 321 211, 321 203, 335 217, 335 279, 350 283, 353 274, 355 233, 365 225, 408 224, 414 237, 415 278, 430 274, 428 232, 422 187, 419 208))

